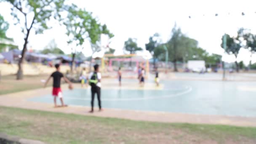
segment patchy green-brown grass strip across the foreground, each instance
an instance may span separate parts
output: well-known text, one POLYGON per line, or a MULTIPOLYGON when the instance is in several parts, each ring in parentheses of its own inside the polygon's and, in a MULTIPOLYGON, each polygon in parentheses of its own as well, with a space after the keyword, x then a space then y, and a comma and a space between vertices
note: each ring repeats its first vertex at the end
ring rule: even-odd
POLYGON ((256 128, 154 123, 0 107, 0 132, 49 144, 255 144, 256 128))

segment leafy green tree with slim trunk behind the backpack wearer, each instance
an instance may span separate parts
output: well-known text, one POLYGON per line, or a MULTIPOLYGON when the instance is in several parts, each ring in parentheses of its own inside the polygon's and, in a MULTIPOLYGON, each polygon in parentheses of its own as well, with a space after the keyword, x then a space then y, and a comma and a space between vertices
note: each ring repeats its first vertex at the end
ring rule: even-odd
POLYGON ((68 8, 69 14, 64 21, 64 25, 67 28, 67 35, 69 36, 68 44, 72 45, 72 64, 71 72, 73 72, 73 66, 75 62, 75 55, 83 50, 83 43, 85 39, 88 39, 91 43, 93 53, 98 50, 101 34, 114 35, 109 32, 107 25, 101 25, 95 18, 92 17, 92 13, 85 11, 85 9, 78 8, 77 5, 72 5, 68 8))

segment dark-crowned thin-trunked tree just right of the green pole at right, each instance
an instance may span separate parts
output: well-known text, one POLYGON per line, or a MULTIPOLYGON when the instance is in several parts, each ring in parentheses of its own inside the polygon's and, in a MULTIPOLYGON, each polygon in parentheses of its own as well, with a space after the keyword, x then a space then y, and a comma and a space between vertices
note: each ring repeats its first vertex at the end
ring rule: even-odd
MULTIPOLYGON (((226 49, 225 52, 227 52, 228 54, 233 54, 235 56, 235 65, 236 65, 236 71, 239 72, 239 66, 237 63, 237 56, 238 53, 240 51, 241 48, 241 41, 237 40, 238 37, 230 37, 230 35, 225 34, 226 35, 226 49)), ((222 36, 222 43, 221 43, 221 47, 223 48, 223 40, 224 40, 224 35, 222 36)))

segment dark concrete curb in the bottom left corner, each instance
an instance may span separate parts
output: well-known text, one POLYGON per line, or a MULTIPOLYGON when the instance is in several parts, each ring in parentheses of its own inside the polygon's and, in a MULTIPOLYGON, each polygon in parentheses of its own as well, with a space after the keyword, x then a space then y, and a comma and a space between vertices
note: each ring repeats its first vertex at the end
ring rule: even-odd
POLYGON ((0 144, 46 144, 42 141, 35 141, 31 139, 22 139, 18 136, 9 136, 0 133, 0 144))

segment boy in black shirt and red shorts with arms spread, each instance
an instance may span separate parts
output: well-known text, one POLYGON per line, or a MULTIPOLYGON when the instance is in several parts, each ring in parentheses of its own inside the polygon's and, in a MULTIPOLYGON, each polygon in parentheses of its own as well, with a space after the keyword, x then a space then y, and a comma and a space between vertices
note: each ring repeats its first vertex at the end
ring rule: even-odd
POLYGON ((58 107, 56 103, 56 98, 59 97, 61 100, 61 107, 67 107, 67 105, 64 104, 63 102, 63 96, 62 96, 62 91, 61 91, 61 77, 69 83, 69 88, 72 88, 72 83, 64 77, 64 75, 60 72, 60 65, 55 64, 56 71, 51 74, 51 76, 46 80, 44 87, 46 87, 48 81, 53 77, 53 91, 52 95, 54 97, 54 107, 58 107))

